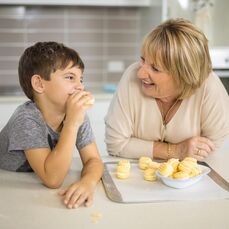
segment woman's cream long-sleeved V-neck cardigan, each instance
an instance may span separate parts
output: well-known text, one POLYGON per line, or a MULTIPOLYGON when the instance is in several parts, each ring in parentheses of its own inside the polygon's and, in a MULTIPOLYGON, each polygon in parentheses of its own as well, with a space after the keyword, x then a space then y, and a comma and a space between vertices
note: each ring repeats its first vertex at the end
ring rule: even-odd
POLYGON ((178 143, 193 136, 211 139, 216 148, 222 144, 229 135, 229 97, 213 72, 164 126, 155 99, 141 91, 138 68, 134 63, 125 71, 105 117, 109 154, 152 157, 154 141, 178 143))

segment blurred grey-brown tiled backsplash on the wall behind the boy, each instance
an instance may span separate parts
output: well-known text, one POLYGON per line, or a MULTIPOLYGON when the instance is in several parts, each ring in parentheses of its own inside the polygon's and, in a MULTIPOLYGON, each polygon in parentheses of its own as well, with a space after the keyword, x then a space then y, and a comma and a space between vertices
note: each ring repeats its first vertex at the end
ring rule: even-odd
POLYGON ((80 53, 86 86, 116 84, 123 70, 138 60, 141 15, 137 7, 0 6, 0 87, 19 87, 23 50, 49 40, 80 53))

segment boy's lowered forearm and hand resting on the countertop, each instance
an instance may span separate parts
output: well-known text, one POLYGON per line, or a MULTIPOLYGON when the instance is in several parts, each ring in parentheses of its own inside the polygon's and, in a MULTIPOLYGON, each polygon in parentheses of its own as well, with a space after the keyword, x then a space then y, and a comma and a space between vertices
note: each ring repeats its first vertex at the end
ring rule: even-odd
POLYGON ((80 150, 80 156, 83 162, 80 181, 59 192, 65 196, 64 203, 68 208, 77 208, 83 203, 90 206, 96 184, 103 174, 103 163, 95 142, 80 150))

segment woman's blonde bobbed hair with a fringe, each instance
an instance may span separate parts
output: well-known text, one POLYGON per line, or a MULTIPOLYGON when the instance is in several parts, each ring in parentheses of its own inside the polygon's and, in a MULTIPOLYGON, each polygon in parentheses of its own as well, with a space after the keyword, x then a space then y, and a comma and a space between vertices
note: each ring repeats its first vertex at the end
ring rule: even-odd
POLYGON ((147 34, 142 54, 175 79, 180 99, 191 96, 212 71, 207 38, 182 18, 167 20, 147 34))

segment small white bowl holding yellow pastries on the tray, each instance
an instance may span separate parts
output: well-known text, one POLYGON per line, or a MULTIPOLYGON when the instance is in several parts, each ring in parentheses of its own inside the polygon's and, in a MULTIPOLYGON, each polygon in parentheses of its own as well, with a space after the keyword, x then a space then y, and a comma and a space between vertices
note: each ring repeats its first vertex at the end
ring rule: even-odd
POLYGON ((155 172, 156 176, 159 177, 161 179, 161 181, 172 188, 186 188, 188 186, 191 186, 195 183, 197 183, 198 181, 200 181, 204 176, 206 176, 211 169, 207 166, 204 165, 198 165, 199 168, 201 169, 202 173, 199 176, 195 176, 192 178, 188 178, 188 179, 174 179, 174 178, 170 178, 170 177, 164 177, 162 175, 159 174, 158 171, 155 172))

